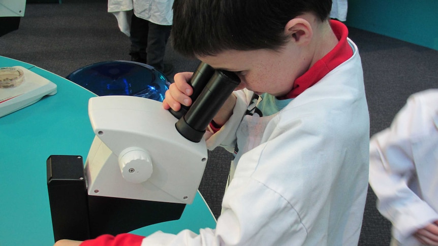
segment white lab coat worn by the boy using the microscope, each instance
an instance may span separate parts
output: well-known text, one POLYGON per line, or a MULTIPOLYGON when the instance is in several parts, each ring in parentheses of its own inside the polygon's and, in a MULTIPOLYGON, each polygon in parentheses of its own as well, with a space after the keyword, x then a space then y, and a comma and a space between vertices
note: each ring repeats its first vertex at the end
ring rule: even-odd
POLYGON ((244 116, 236 92, 230 120, 207 140, 238 163, 215 229, 156 232, 142 245, 357 245, 368 187, 369 117, 354 55, 288 106, 244 116), (243 120, 242 120, 243 117, 243 120), (244 141, 248 139, 248 141, 244 141))

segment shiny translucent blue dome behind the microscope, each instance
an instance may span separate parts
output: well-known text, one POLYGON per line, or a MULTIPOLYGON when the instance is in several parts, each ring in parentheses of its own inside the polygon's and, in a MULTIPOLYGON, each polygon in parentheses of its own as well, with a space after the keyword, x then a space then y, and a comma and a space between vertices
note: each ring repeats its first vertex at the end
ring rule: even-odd
POLYGON ((77 69, 68 80, 103 95, 131 95, 163 101, 170 82, 153 66, 134 61, 104 61, 77 69))

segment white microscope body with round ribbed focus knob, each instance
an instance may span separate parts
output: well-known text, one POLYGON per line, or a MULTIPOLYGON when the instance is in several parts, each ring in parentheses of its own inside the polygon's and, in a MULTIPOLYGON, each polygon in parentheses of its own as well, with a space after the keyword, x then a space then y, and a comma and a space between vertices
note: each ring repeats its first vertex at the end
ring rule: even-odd
POLYGON ((192 203, 207 162, 205 141, 181 136, 161 102, 94 97, 88 114, 96 134, 85 163, 88 195, 192 203))

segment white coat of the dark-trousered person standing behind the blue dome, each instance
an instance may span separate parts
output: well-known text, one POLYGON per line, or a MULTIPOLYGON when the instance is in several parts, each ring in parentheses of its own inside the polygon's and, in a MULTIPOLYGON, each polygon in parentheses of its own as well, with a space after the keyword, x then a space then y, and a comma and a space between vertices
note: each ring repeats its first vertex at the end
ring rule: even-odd
POLYGON ((130 36, 127 11, 158 25, 172 25, 174 0, 108 0, 108 12, 114 14, 120 31, 130 36))

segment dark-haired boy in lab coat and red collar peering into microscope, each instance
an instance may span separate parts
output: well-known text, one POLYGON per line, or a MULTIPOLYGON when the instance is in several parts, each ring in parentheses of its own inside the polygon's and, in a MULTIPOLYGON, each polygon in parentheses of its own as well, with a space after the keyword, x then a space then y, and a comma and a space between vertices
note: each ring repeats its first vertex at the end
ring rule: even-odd
MULTIPOLYGON (((207 146, 235 152, 215 229, 83 245, 357 245, 368 187, 369 117, 357 47, 329 21, 330 0, 177 0, 179 53, 236 72, 207 146), (254 96, 256 95, 256 96, 254 96), (252 99, 258 114, 247 114, 252 99)), ((175 76, 165 109, 189 106, 191 73, 175 76)))

